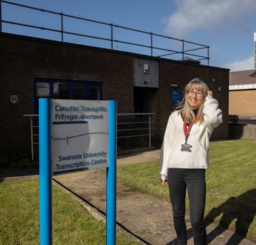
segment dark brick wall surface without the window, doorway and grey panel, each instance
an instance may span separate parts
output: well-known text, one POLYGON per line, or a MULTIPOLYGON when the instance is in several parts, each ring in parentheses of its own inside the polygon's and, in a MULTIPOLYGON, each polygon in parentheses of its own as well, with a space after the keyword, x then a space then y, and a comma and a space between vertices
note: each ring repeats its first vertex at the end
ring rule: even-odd
POLYGON ((228 70, 6 33, 0 33, 0 46, 1 154, 30 153, 29 119, 23 114, 33 114, 34 77, 102 82, 103 99, 117 100, 118 113, 130 113, 134 107, 134 58, 159 62, 159 89, 144 89, 145 110, 155 113, 153 141, 161 142, 174 109, 171 83, 183 90, 194 77, 208 83, 223 109, 224 124, 213 138, 228 138, 228 70), (18 104, 10 102, 14 94, 18 104))

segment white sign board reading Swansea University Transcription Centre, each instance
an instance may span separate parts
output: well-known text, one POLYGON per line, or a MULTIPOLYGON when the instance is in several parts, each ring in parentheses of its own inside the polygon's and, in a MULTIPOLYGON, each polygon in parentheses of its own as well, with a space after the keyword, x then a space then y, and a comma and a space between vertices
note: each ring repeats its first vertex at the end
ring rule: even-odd
POLYGON ((108 167, 109 102, 51 99, 53 175, 108 167))

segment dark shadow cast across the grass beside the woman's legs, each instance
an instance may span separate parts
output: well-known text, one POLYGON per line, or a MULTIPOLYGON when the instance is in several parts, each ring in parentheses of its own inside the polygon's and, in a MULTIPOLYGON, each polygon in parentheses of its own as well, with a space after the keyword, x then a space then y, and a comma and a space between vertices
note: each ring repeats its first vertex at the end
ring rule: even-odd
MULTIPOLYGON (((225 243, 225 245, 238 245, 245 239, 250 224, 256 214, 256 189, 249 190, 238 197, 230 197, 219 207, 213 208, 206 217, 206 226, 213 223, 214 219, 220 217, 220 223, 213 231, 207 234, 206 244, 210 244, 217 236, 223 234, 228 229, 230 223, 235 221, 235 233, 225 243)), ((192 229, 188 229, 188 239, 193 237, 192 229)), ((177 239, 170 241, 166 245, 176 245, 177 239)))

